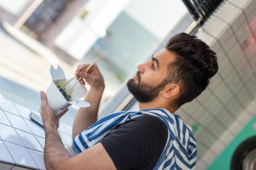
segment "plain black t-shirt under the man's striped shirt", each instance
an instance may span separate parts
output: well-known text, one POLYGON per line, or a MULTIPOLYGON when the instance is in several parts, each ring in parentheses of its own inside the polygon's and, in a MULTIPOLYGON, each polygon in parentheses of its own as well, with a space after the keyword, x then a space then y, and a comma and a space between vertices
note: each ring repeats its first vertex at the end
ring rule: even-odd
POLYGON ((100 142, 117 169, 153 169, 168 137, 167 127, 156 116, 133 118, 100 142))

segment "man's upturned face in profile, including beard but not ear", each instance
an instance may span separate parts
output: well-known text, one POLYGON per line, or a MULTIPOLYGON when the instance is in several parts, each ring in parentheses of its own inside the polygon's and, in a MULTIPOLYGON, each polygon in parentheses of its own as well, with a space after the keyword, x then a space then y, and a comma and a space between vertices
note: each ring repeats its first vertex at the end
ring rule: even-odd
POLYGON ((129 79, 127 87, 139 103, 152 101, 158 96, 169 82, 168 65, 175 59, 172 52, 162 49, 152 56, 152 60, 137 67, 137 74, 134 79, 129 79))

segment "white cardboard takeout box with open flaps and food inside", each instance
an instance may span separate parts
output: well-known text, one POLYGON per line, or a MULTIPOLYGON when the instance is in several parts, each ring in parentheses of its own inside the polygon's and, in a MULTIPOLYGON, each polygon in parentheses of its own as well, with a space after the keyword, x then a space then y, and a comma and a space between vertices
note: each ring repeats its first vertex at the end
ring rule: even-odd
MULTIPOLYGON (((50 72, 53 82, 49 85, 48 89, 46 89, 45 93, 47 96, 47 102, 56 114, 60 114, 70 105, 75 105, 81 108, 87 108, 90 106, 90 103, 80 99, 85 97, 87 93, 87 89, 84 85, 77 83, 69 93, 68 99, 66 99, 58 87, 61 87, 61 85, 65 84, 69 79, 66 79, 63 69, 59 66, 55 69, 53 65, 51 65, 50 72)), ((76 81, 76 79, 73 79, 69 82, 65 87, 63 87, 64 91, 68 91, 76 81)))

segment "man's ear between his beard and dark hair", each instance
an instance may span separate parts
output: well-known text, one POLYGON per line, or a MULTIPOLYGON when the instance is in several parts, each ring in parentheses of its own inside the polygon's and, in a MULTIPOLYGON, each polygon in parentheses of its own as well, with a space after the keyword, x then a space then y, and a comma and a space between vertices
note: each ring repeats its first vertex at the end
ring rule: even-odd
POLYGON ((162 89, 162 97, 170 98, 176 97, 180 93, 180 86, 176 83, 167 84, 164 89, 162 89))

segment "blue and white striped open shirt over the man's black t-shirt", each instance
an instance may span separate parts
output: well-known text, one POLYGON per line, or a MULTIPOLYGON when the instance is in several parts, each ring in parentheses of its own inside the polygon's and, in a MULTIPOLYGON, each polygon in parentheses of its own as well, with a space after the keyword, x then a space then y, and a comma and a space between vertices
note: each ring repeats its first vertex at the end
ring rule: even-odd
POLYGON ((118 125, 143 114, 157 116, 168 129, 164 151, 154 169, 195 169, 197 144, 193 132, 179 116, 171 114, 165 109, 141 110, 139 112, 122 111, 110 114, 75 137, 73 140, 75 151, 82 153, 115 130, 118 125))

